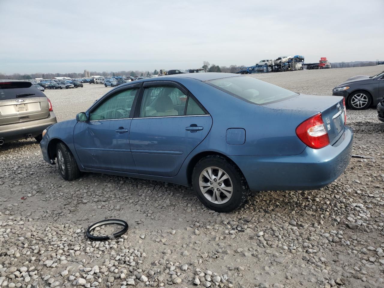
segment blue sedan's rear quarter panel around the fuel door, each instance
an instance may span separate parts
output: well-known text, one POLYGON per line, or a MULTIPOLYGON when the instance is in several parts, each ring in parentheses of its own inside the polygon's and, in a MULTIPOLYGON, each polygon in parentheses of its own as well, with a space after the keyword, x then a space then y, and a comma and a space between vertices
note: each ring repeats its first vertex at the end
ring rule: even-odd
POLYGON ((210 133, 193 154, 215 151, 227 156, 298 155, 304 151, 306 146, 298 139, 295 130, 303 117, 313 115, 313 112, 266 108, 247 103, 201 81, 178 80, 194 94, 213 119, 210 133), (228 128, 245 129, 245 143, 227 144, 228 128))

